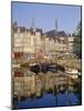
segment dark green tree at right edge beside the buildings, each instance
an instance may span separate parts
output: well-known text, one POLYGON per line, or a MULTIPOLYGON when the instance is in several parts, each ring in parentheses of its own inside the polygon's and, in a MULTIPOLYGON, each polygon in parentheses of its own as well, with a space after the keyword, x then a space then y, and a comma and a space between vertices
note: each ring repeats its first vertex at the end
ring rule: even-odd
POLYGON ((74 52, 78 58, 82 57, 82 23, 80 22, 76 28, 76 33, 74 36, 74 52))

